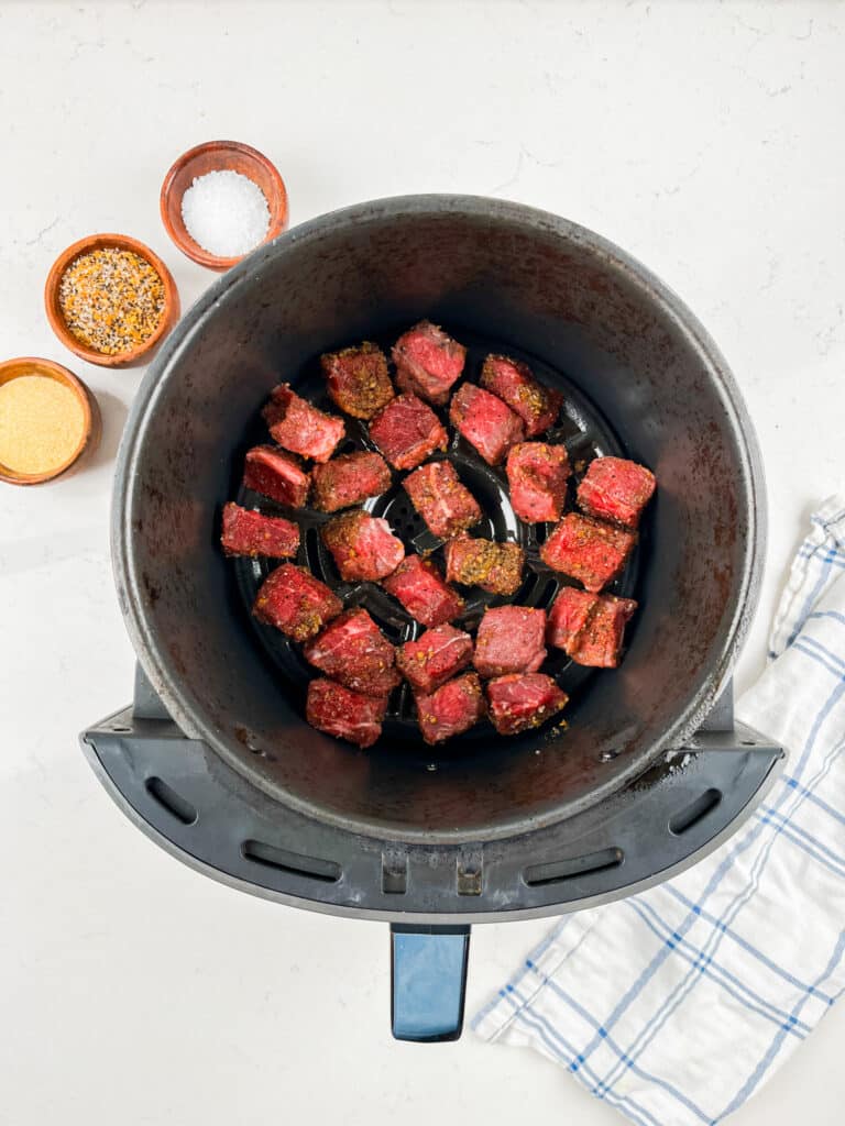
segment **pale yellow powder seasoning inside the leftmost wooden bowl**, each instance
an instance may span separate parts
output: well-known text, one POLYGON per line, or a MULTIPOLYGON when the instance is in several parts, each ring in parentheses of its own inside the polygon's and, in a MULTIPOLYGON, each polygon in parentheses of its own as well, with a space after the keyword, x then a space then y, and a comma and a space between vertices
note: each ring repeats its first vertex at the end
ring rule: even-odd
POLYGON ((0 385, 0 465, 10 473, 50 473, 72 457, 84 434, 82 404, 44 375, 0 385))

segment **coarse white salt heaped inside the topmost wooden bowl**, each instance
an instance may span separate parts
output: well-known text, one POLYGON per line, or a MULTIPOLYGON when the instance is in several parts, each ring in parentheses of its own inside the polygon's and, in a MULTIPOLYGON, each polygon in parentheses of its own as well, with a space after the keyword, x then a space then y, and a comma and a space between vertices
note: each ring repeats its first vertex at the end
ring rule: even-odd
POLYGON ((264 241, 270 209, 264 193, 230 169, 197 177, 181 200, 188 234, 217 258, 239 258, 264 241))

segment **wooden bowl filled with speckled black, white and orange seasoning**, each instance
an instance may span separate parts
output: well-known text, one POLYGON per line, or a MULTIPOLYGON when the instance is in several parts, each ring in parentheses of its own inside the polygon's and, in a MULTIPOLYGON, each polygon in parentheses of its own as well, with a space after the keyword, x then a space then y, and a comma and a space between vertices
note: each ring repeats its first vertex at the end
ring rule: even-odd
POLYGON ((94 234, 68 247, 47 276, 44 302, 62 343, 104 367, 149 359, 179 319, 170 270, 125 234, 94 234))

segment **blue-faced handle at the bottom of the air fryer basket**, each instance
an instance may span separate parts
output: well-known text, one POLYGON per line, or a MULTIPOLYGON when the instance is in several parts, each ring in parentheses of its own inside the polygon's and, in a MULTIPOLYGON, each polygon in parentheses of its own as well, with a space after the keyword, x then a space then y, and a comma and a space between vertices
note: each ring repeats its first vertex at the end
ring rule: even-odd
POLYGON ((463 1028, 469 927, 390 928, 392 1027, 398 1040, 456 1040, 463 1028))

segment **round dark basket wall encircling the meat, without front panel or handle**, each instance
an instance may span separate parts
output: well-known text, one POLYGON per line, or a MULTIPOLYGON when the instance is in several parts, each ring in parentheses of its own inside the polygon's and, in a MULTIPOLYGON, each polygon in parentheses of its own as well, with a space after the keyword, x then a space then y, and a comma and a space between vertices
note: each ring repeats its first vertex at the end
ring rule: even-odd
POLYGON ((400 840, 488 839, 606 798, 700 722, 754 600, 759 491, 726 365, 641 266, 527 208, 399 198, 291 231, 183 321, 127 427, 114 557, 139 658, 186 734, 319 820, 400 840), (468 740, 426 761, 402 740, 362 754, 304 724, 300 686, 257 644, 215 546, 269 387, 302 385, 327 348, 424 315, 563 373, 660 483, 622 668, 575 694, 557 739, 468 740))

